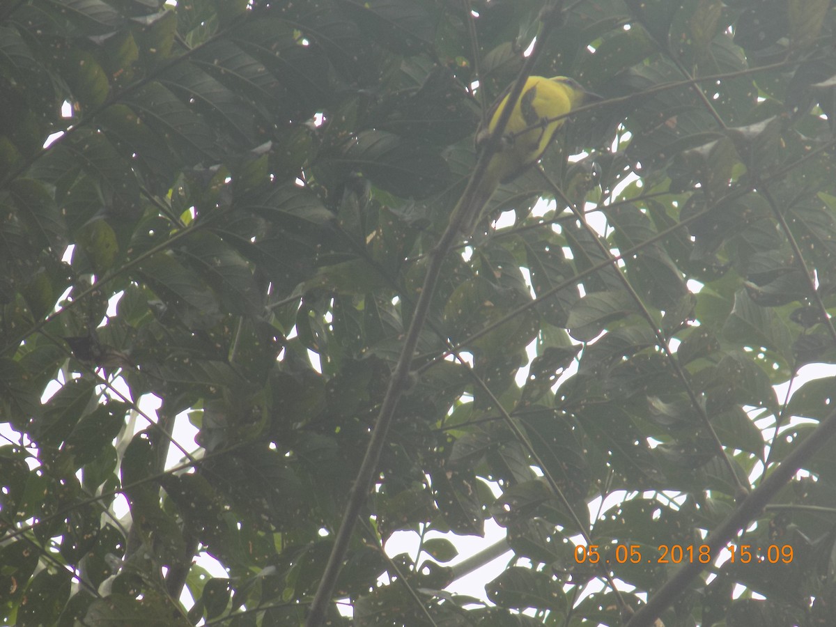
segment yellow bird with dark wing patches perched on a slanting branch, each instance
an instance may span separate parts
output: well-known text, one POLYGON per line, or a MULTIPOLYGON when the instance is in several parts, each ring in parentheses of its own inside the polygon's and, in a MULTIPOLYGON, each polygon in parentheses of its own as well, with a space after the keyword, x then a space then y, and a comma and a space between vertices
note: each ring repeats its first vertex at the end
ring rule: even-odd
MULTIPOLYGON (((497 123, 508 102, 511 88, 497 99, 488 115, 487 129, 477 130, 477 147, 497 128, 497 123)), ((536 163, 548 148, 554 133, 563 126, 566 115, 584 104, 590 94, 574 79, 565 76, 529 76, 514 103, 497 151, 487 163, 482 185, 461 197, 455 212, 465 212, 461 231, 471 235, 482 217, 482 211, 500 183, 507 183, 536 163), (555 120, 555 118, 560 118, 555 120), (468 197, 469 196, 469 197, 468 197)), ((455 215, 454 212, 454 215, 455 215)))

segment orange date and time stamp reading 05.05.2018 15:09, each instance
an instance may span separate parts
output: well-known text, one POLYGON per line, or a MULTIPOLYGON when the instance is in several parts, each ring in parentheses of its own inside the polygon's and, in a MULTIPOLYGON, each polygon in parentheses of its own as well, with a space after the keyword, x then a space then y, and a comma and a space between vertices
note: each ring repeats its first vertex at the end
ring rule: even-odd
MULTIPOLYGON (((575 547, 576 563, 711 563, 711 547, 707 544, 660 544, 655 555, 642 553, 642 544, 579 544, 575 547)), ((791 563, 791 544, 729 544, 726 546, 731 563, 791 563)))

